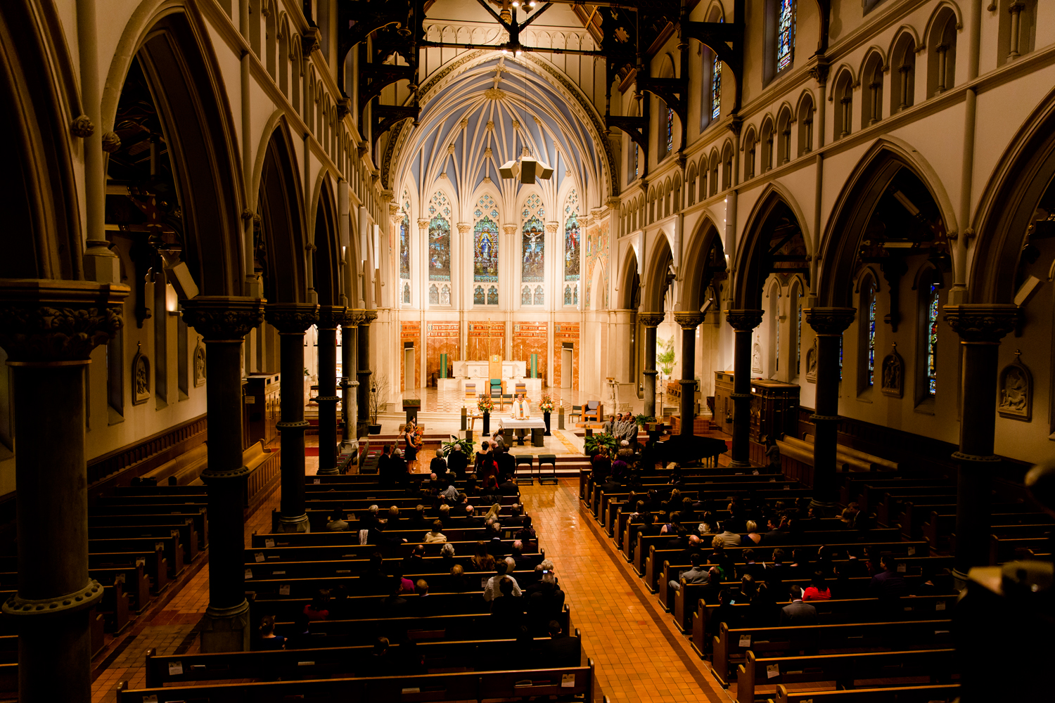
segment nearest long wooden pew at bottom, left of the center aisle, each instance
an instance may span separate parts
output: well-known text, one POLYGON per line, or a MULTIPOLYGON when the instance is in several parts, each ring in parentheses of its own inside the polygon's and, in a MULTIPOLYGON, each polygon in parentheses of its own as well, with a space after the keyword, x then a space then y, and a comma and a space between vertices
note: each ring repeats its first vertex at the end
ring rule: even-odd
POLYGON ((379 701, 463 701, 549 696, 594 700, 594 663, 552 669, 464 671, 368 679, 323 679, 279 683, 213 684, 130 690, 118 684, 117 703, 285 703, 290 699, 378 703, 379 701))

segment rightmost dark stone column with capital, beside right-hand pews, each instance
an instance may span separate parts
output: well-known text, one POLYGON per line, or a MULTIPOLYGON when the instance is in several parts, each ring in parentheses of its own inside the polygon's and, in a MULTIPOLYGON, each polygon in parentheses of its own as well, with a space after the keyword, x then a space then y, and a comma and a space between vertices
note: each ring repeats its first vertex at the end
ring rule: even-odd
MULTIPOLYGON (((960 395, 960 448, 956 494, 956 555, 953 578, 966 582, 972 566, 989 564, 992 520, 992 472, 1000 458, 993 454, 996 431, 997 354, 1000 339, 1015 329, 1018 306, 970 304, 945 306, 945 321, 963 345, 960 395)), ((952 389, 950 389, 952 392, 952 389)))

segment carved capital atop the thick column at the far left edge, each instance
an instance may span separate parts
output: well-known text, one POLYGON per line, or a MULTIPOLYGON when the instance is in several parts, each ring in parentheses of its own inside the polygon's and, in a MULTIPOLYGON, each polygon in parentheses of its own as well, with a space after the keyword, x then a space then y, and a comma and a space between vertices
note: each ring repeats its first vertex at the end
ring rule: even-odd
POLYGON ((87 362, 121 329, 122 284, 0 279, 0 347, 11 363, 87 362))

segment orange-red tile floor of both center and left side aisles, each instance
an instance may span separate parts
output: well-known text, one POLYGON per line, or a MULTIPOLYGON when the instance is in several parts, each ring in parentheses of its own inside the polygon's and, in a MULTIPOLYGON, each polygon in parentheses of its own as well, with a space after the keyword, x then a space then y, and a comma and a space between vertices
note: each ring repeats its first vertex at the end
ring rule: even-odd
MULTIPOLYGON (((308 473, 314 473, 318 466, 312 458, 308 457, 308 473)), ((524 486, 522 495, 567 592, 572 626, 579 628, 586 656, 594 660, 598 701, 601 696, 612 703, 733 700, 580 506, 577 480, 561 480, 557 486, 524 486)), ((276 491, 247 522, 247 541, 253 530, 270 529, 271 510, 277 506, 276 491)), ((209 566, 189 568, 196 572, 171 587, 172 592, 156 601, 93 662, 93 701, 113 701, 120 681, 128 681, 132 688, 143 687, 143 658, 149 648, 158 653, 197 651, 196 626, 209 600, 209 566)))

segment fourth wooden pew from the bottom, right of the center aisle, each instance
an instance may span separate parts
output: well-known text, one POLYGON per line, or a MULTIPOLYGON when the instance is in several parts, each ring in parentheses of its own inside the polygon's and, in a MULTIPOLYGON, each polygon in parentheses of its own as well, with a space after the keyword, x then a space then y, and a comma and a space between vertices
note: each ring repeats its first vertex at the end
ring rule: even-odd
MULTIPOLYGON (((957 595, 950 592, 945 595, 913 595, 902 599, 899 620, 942 620, 947 618, 956 604, 957 595)), ((788 605, 788 601, 778 603, 779 607, 788 605)), ((835 623, 867 623, 887 620, 886 611, 879 607, 879 599, 852 598, 831 601, 810 601, 817 608, 817 622, 820 625, 835 623)), ((750 607, 747 603, 732 606, 742 613, 747 613, 750 607)), ((710 650, 714 626, 711 618, 717 612, 718 606, 708 605, 697 600, 696 612, 692 616, 692 648, 701 657, 710 650)))

